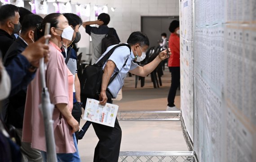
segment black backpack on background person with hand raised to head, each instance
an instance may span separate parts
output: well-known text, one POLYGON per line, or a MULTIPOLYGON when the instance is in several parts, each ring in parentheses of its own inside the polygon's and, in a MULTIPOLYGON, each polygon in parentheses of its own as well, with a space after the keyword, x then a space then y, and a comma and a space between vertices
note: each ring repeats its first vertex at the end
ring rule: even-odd
POLYGON ((119 40, 114 35, 114 28, 110 28, 108 33, 102 39, 102 54, 106 52, 106 49, 111 46, 119 44, 119 40))

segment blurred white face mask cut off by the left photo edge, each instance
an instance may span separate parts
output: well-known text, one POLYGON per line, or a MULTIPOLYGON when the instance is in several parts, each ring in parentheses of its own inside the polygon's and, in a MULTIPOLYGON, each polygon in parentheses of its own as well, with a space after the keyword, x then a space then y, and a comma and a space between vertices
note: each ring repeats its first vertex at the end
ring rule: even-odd
POLYGON ((0 100, 7 98, 11 91, 11 80, 7 71, 3 68, 2 79, 0 82, 0 100))

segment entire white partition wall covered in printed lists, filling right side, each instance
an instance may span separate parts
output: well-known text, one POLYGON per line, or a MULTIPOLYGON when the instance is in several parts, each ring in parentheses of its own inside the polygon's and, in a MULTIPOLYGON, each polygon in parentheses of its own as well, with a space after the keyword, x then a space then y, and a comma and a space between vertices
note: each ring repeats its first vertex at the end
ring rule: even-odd
POLYGON ((256 162, 256 0, 180 0, 180 19, 181 109, 199 162, 256 162))

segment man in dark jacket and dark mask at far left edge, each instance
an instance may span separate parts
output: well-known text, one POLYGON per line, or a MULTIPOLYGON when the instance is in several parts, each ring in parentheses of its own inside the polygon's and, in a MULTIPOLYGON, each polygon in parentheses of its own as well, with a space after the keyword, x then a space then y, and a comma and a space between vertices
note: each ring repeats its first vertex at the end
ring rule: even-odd
POLYGON ((19 18, 17 6, 5 4, 0 7, 0 50, 3 57, 14 42, 11 35, 18 33, 21 29, 19 18))

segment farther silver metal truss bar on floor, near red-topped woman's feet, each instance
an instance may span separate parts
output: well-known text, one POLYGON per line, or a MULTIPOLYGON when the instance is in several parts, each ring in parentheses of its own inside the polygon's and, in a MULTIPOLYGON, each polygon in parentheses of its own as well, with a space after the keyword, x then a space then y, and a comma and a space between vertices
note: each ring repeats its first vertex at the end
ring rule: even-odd
POLYGON ((125 121, 180 121, 181 111, 119 111, 117 118, 125 121))

